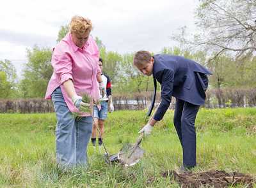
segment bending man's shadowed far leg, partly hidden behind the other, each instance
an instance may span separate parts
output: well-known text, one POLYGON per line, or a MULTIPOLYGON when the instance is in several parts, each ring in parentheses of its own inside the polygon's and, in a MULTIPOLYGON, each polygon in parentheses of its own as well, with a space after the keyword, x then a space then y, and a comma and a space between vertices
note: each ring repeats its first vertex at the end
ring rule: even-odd
POLYGON ((173 124, 175 126, 176 132, 179 136, 180 144, 182 146, 182 134, 181 134, 181 115, 183 112, 184 101, 176 99, 173 124))

